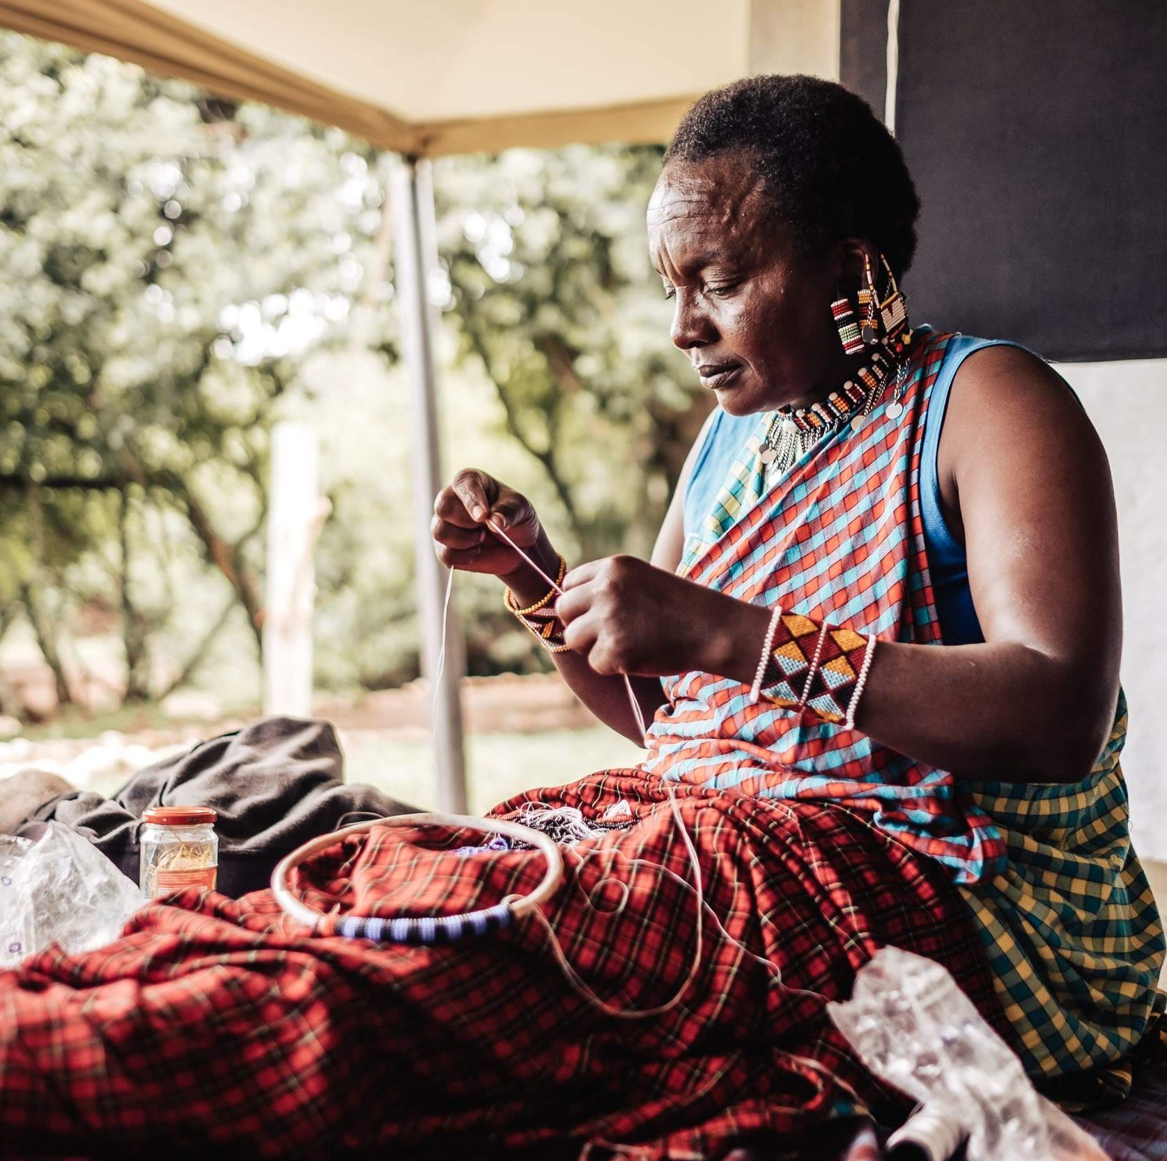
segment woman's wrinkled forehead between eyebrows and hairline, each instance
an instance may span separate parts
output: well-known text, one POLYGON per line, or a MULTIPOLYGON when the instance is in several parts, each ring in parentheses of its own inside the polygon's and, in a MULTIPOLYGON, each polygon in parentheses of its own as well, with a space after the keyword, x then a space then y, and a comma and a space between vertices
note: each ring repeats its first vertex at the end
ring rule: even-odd
POLYGON ((694 252, 728 257, 777 240, 762 181, 738 155, 670 162, 648 209, 649 249, 678 265, 694 252))

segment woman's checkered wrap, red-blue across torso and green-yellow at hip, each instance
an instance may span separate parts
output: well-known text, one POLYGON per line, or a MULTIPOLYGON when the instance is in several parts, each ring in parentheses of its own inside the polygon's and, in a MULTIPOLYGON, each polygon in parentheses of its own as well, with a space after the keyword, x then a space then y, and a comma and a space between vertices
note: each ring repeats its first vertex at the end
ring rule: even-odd
MULTIPOLYGON (((857 634, 939 644, 918 480, 928 400, 951 337, 925 333, 901 418, 876 407, 858 433, 845 426, 769 491, 757 459, 763 415, 680 571, 857 634)), ((858 732, 750 705, 748 687, 710 673, 669 678, 665 692, 647 769, 847 803, 950 869, 1030 1075, 1105 1068, 1138 1043, 1161 1005, 1163 932, 1130 844, 1124 704, 1093 774, 1067 786, 957 781, 858 732)), ((1100 1086, 1113 1079, 1099 1076, 1100 1086)))

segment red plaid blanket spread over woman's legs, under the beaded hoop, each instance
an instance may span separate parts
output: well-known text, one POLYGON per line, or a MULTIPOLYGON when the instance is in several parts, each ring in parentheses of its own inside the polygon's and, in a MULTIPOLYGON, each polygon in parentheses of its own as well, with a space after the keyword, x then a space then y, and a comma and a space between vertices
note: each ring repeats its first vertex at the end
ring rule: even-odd
MULTIPOLYGON (((684 984, 697 933, 663 784, 598 774, 497 813, 537 800, 594 819, 621 799, 631 825, 566 852, 545 914, 596 993, 650 1008, 684 984), (622 908, 612 880, 629 887, 622 908)), ((236 902, 189 889, 99 951, 50 949, 0 973, 6 1155, 454 1157, 566 1143, 580 1156, 715 1157, 886 1101, 824 1014, 882 944, 943 963, 999 1023, 978 940, 929 860, 838 806, 692 786, 677 805, 706 901, 781 967, 781 985, 708 912, 683 1002, 628 1020, 567 982, 533 918, 450 946, 377 946, 309 936, 267 891, 236 902)), ((541 877, 537 852, 454 849, 481 841, 377 828, 301 868, 299 889, 359 915, 443 914, 541 877)))

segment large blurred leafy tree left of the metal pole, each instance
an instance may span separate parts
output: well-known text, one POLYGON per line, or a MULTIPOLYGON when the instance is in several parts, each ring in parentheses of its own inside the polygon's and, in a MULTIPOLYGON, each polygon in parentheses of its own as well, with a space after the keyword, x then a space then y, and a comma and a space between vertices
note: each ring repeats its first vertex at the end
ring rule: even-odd
POLYGON ((340 342, 380 198, 343 133, 0 34, 0 597, 62 700, 50 604, 111 545, 126 693, 159 692, 173 609, 135 506, 184 516, 258 644, 267 428, 298 357, 340 342))

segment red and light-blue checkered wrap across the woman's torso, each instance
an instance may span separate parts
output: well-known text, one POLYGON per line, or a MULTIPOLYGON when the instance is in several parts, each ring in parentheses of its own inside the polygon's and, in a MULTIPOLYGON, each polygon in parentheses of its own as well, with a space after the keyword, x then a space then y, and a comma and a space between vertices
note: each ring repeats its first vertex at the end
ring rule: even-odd
MULTIPOLYGON (((928 331, 913 349, 902 415, 887 415, 888 393, 858 432, 845 424, 769 490, 757 453, 773 414, 759 417, 680 573, 864 637, 938 643, 918 480, 928 399, 950 337, 928 331)), ((713 673, 680 673, 664 688, 645 769, 767 798, 855 806, 956 882, 1004 868, 1000 831, 946 771, 841 723, 752 705, 748 686, 713 673)))

